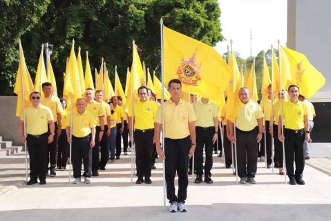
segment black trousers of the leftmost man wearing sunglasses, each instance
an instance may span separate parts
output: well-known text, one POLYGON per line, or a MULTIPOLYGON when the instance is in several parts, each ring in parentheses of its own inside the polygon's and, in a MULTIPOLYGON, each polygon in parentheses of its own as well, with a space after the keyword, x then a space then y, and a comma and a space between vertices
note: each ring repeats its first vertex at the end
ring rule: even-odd
MULTIPOLYGON (((30 160, 30 179, 37 181, 46 180, 48 170, 48 133, 44 133, 40 137, 28 135, 26 137, 26 145, 28 146, 30 160)), ((54 141, 53 141, 54 142, 54 141)))

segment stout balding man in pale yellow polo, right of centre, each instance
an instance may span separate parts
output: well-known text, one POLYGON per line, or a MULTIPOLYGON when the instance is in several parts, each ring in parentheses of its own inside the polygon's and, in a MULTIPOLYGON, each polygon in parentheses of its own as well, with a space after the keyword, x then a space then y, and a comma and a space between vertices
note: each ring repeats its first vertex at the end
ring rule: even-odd
POLYGON ((258 143, 261 142, 264 131, 262 122, 264 115, 258 102, 249 99, 248 88, 240 88, 239 98, 244 105, 238 109, 236 115, 236 137, 234 137, 234 123, 229 119, 227 119, 229 129, 227 136, 231 142, 236 142, 237 144, 237 169, 240 184, 245 184, 246 179, 250 184, 255 184, 256 153, 258 152, 258 143))

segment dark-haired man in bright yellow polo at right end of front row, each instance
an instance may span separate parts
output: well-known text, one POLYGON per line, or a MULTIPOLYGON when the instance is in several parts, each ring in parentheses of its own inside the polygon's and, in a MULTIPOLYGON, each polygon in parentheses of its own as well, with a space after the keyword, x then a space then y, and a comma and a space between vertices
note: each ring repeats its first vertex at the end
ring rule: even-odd
POLYGON ((290 101, 283 104, 283 119, 286 122, 284 137, 282 135, 281 110, 278 111, 278 139, 285 143, 285 165, 291 185, 304 185, 302 180, 305 168, 305 155, 303 153, 303 142, 310 139, 308 108, 299 101, 299 87, 291 85, 288 88, 290 101), (294 161, 295 156, 295 173, 294 161))

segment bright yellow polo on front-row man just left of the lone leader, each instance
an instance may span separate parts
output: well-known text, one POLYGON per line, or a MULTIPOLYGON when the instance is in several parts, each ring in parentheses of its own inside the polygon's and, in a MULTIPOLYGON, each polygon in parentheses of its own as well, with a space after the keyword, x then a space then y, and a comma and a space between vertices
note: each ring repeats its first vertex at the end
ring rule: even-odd
MULTIPOLYGON (((135 117, 135 129, 146 130, 154 128, 154 117, 158 111, 158 106, 155 102, 151 102, 148 99, 146 102, 135 102, 133 115, 135 117)), ((130 108, 128 116, 132 117, 132 109, 130 108)))

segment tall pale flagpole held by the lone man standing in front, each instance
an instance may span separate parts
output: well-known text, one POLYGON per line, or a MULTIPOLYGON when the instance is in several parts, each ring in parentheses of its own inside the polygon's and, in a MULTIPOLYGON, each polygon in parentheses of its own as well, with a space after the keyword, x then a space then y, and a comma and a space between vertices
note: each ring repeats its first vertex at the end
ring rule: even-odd
MULTIPOLYGON (((165 153, 164 145, 164 64, 163 64, 163 19, 160 19, 161 29, 161 81, 162 81, 162 148, 165 153)), ((163 160, 163 209, 166 211, 166 182, 165 182, 165 160, 163 160)))

